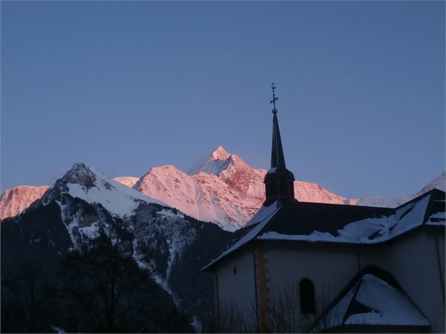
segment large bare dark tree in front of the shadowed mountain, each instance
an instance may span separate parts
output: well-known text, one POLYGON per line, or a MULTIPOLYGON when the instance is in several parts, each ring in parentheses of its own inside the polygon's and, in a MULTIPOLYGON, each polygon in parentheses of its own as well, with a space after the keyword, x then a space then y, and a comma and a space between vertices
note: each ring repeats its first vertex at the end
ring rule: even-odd
MULTIPOLYGON (((124 220, 101 225, 63 262, 61 291, 74 331, 191 331, 185 316, 147 269, 133 258, 133 234, 124 220)), ((146 256, 147 253, 145 254, 146 256)), ((147 260, 147 259, 145 259, 147 260)))

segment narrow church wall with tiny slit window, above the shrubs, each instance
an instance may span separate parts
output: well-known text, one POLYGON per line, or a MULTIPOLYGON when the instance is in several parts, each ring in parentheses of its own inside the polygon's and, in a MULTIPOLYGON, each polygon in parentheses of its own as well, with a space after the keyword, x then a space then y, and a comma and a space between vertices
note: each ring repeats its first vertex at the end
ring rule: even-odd
MULTIPOLYGON (((218 308, 225 312, 230 305, 251 315, 255 312, 254 259, 252 253, 240 250, 221 262, 218 275, 218 308), (237 267, 237 274, 233 273, 237 267)), ((222 314, 223 314, 222 313, 222 314)))

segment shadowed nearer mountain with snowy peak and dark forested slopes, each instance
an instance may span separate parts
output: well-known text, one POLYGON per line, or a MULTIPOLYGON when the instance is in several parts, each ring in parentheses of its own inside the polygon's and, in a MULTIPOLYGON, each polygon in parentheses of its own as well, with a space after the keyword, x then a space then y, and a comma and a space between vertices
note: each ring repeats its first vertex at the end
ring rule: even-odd
POLYGON ((163 206, 84 163, 76 163, 20 215, 2 220, 1 265, 10 269, 23 258, 56 263, 100 231, 110 233, 112 225, 124 223, 137 265, 150 272, 181 312, 193 315, 196 330, 206 326, 212 277, 199 269, 237 234, 163 206))

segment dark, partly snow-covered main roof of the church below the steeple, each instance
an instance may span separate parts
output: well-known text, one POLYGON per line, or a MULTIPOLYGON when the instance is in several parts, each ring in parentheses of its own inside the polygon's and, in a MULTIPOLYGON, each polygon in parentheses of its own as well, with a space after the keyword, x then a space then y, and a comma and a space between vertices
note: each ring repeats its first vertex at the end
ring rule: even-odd
POLYGON ((289 201, 262 207, 248 223, 251 229, 210 269, 255 240, 377 244, 421 225, 445 226, 445 192, 432 189, 398 208, 346 206, 289 201))

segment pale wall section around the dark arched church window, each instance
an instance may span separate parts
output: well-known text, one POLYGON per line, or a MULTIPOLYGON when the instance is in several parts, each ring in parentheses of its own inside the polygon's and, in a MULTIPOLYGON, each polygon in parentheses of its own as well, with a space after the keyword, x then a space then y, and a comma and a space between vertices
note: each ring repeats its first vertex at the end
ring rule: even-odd
MULTIPOLYGON (((270 242, 266 248, 272 294, 283 293, 301 279, 310 279, 315 288, 316 308, 322 309, 338 295, 358 272, 355 248, 329 246, 327 243, 270 242)), ((300 312, 299 307, 296 312, 300 312)))

